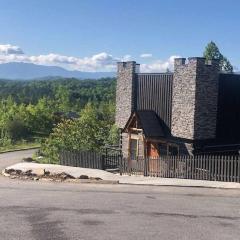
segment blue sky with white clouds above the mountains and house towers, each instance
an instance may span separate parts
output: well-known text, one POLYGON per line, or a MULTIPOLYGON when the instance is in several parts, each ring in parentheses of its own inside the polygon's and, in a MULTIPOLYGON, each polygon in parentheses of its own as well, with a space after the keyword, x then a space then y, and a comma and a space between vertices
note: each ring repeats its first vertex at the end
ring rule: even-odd
POLYGON ((171 56, 201 56, 213 40, 240 68, 238 0, 0 0, 0 6, 0 62, 111 71, 118 60, 136 60, 144 71, 162 71, 171 56))

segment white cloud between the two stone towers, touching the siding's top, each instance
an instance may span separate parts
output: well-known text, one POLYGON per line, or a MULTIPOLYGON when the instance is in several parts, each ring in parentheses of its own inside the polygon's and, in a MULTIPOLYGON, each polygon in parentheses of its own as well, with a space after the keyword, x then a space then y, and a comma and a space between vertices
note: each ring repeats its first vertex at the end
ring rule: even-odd
POLYGON ((178 58, 180 56, 171 56, 166 61, 155 60, 149 64, 141 64, 140 69, 141 72, 165 72, 167 69, 173 70, 174 58, 178 58))

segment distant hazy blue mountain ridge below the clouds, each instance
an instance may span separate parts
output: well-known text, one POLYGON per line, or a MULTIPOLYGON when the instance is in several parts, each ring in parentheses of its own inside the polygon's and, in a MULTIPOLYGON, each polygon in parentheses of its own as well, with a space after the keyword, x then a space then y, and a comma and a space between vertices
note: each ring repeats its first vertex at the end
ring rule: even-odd
POLYGON ((57 66, 44 66, 32 63, 10 62, 0 64, 0 78, 30 80, 46 77, 66 77, 79 79, 98 79, 103 77, 115 77, 114 72, 81 72, 68 71, 57 66))

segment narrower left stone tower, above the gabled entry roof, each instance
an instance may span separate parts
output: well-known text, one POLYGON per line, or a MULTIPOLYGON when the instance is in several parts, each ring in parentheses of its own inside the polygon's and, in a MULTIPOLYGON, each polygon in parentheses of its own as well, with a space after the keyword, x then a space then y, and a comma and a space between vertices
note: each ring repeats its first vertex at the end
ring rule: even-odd
POLYGON ((124 128, 135 107, 136 62, 119 62, 116 92, 116 125, 124 128))

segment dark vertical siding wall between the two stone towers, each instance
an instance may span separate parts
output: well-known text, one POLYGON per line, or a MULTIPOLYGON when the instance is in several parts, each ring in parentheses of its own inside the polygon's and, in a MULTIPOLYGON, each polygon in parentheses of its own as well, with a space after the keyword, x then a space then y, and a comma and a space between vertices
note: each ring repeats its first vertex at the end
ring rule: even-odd
POLYGON ((171 128, 173 74, 137 74, 136 108, 153 110, 171 128))

